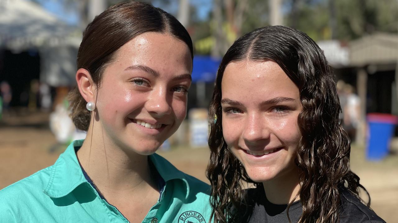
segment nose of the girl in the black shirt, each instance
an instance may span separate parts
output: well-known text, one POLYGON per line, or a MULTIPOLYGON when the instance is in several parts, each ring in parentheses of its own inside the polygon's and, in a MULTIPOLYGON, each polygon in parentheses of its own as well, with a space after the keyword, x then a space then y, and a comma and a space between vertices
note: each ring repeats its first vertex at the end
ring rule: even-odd
POLYGON ((260 113, 252 113, 246 117, 243 139, 246 143, 268 139, 270 136, 267 120, 260 113))

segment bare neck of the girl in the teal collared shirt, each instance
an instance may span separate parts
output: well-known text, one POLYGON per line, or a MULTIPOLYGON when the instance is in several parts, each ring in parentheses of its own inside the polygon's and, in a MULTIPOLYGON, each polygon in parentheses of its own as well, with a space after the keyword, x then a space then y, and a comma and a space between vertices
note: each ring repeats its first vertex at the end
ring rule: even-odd
POLYGON ((90 135, 90 129, 77 157, 105 198, 108 194, 125 196, 126 193, 144 193, 156 188, 151 179, 148 156, 127 153, 103 137, 90 135))

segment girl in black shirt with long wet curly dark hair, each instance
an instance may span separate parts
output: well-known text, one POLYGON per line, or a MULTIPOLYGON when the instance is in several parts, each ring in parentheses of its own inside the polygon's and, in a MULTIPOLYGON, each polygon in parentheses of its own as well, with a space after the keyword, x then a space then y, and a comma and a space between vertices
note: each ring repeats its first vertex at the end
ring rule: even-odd
POLYGON ((316 43, 289 27, 229 48, 210 107, 214 222, 384 222, 359 198, 334 79, 316 43))

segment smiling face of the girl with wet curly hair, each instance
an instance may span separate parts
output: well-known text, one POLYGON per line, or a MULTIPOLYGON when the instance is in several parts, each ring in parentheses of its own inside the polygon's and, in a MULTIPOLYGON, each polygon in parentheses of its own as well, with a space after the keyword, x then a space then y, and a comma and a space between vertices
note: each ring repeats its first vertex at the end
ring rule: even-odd
POLYGON ((250 179, 289 177, 301 137, 297 86, 275 62, 241 61, 227 65, 221 89, 224 139, 250 179))

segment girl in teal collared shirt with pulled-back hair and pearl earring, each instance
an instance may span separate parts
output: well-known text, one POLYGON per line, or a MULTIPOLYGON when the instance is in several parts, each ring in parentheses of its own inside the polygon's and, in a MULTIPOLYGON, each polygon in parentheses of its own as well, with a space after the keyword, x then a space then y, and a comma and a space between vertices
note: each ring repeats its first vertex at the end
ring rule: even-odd
POLYGON ((185 118, 192 58, 189 34, 159 8, 129 2, 98 15, 69 97, 87 137, 1 190, 1 222, 209 221, 208 185, 154 154, 185 118))

